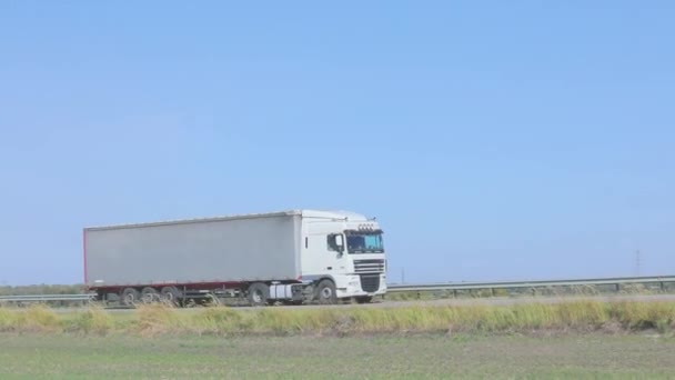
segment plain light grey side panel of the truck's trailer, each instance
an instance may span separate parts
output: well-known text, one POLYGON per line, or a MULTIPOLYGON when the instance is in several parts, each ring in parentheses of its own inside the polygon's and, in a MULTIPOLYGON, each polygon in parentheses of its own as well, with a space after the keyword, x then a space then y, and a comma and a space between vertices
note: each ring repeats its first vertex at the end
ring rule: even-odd
POLYGON ((300 216, 211 219, 85 230, 91 287, 293 280, 300 216))

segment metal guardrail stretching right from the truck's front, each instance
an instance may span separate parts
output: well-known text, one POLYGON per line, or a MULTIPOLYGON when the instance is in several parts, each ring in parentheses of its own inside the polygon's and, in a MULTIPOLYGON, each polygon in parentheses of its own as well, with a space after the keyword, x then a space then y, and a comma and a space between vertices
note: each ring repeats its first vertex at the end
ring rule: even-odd
POLYGON ((387 292, 416 292, 433 290, 481 290, 481 289, 516 289, 516 288, 547 288, 547 287, 574 287, 574 286, 600 286, 614 284, 616 289, 622 284, 633 283, 665 283, 675 282, 675 276, 665 277, 617 277, 605 279, 578 279, 578 280, 537 280, 537 281, 502 281, 502 282, 449 282, 449 283, 420 283, 420 284, 390 284, 387 292))

